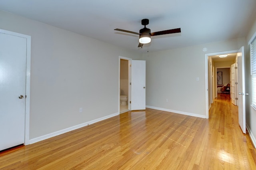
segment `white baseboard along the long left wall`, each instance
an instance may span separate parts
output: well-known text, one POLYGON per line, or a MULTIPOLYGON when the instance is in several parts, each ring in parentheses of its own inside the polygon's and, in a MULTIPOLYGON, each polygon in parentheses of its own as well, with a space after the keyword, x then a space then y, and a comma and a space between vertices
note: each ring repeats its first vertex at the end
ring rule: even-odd
POLYGON ((65 129, 62 129, 62 130, 59 130, 59 131, 56 131, 56 132, 52 132, 50 134, 46 134, 44 136, 39 136, 37 138, 33 138, 33 139, 30 139, 29 140, 29 144, 32 144, 32 143, 36 143, 36 142, 39 142, 39 141, 42 141, 42 140, 45 140, 45 139, 48 139, 48 138, 52 138, 54 136, 58 136, 60 134, 63 134, 63 133, 66 133, 66 132, 70 132, 72 130, 76 130, 78 128, 82 128, 82 127, 85 127, 85 126, 88 126, 88 125, 92 125, 93 123, 97 123, 99 121, 103 121, 105 119, 108 119, 110 117, 114 117, 114 116, 117 116, 119 115, 119 113, 114 113, 112 115, 108 115, 108 116, 105 116, 105 117, 101 117, 101 118, 98 118, 98 119, 95 119, 95 120, 92 120, 92 121, 89 121, 89 122, 86 122, 86 123, 82 123, 82 124, 79 124, 79 125, 75 125, 73 127, 69 127, 69 128, 65 128, 65 129))

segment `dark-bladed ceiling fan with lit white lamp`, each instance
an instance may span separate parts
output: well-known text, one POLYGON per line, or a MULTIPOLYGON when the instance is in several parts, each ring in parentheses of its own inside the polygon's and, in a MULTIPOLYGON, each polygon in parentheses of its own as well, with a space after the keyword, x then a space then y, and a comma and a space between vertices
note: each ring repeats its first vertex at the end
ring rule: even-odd
POLYGON ((158 31, 158 32, 151 32, 151 30, 149 28, 146 28, 146 25, 149 24, 148 19, 141 20, 141 24, 144 26, 144 28, 140 29, 140 33, 127 31, 127 30, 122 30, 122 29, 118 29, 118 28, 116 28, 114 30, 139 35, 139 45, 138 45, 138 47, 142 47, 144 43, 150 43, 151 42, 151 36, 159 36, 159 35, 164 35, 164 34, 174 34, 174 33, 181 32, 180 28, 175 28, 175 29, 172 29, 172 30, 158 31))

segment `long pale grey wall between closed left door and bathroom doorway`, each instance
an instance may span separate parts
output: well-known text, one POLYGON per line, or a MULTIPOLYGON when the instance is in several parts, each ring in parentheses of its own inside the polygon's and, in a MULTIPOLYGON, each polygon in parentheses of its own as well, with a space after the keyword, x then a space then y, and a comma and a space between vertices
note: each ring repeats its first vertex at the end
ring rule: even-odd
POLYGON ((0 29, 32 37, 30 139, 118 113, 119 55, 141 54, 3 11, 0 29))

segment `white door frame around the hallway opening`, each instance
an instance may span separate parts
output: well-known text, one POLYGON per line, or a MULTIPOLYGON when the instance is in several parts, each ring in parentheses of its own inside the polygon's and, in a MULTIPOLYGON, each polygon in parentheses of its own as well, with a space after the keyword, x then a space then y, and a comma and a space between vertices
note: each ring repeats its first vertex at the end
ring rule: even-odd
MULTIPOLYGON (((239 49, 237 50, 232 50, 232 51, 220 51, 220 52, 214 52, 214 53, 206 53, 204 54, 204 68, 205 68, 205 72, 204 72, 204 75, 205 75, 205 118, 206 119, 209 119, 209 109, 210 109, 210 106, 209 106, 209 94, 208 94, 208 57, 212 56, 212 55, 220 55, 220 54, 223 54, 223 53, 237 53, 239 51, 239 49)), ((215 67, 216 69, 216 67, 215 67)), ((212 87, 212 85, 211 85, 212 87)), ((210 87, 210 88, 211 88, 210 87)), ((212 90, 210 89, 211 93, 212 93, 212 90)), ((212 94, 210 94, 212 96, 212 94)))

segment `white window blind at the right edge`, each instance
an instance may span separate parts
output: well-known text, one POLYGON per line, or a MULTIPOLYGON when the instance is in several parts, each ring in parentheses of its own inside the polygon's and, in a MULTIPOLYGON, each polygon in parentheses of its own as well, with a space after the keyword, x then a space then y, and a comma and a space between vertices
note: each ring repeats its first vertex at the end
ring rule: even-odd
POLYGON ((251 42, 252 107, 256 108, 256 41, 251 42))

